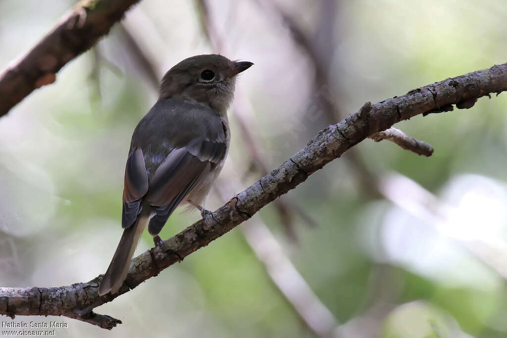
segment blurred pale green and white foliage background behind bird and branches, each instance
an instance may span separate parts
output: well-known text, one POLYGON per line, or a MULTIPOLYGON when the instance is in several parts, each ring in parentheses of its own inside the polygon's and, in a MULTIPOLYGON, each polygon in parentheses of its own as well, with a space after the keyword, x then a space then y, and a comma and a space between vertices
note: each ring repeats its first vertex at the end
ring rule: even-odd
MULTIPOLYGON (((0 68, 71 1, 0 2, 0 68)), ((229 111, 215 209, 366 101, 505 62, 502 0, 143 0, 0 119, 0 285, 104 273, 132 131, 196 54, 255 63, 229 111)), ((69 337, 507 337, 507 95, 397 124, 430 158, 361 142, 69 337)), ((166 239, 199 219, 176 211, 166 239)), ((146 233, 137 253, 152 246, 146 233)), ((2 321, 10 321, 2 317, 2 321)))

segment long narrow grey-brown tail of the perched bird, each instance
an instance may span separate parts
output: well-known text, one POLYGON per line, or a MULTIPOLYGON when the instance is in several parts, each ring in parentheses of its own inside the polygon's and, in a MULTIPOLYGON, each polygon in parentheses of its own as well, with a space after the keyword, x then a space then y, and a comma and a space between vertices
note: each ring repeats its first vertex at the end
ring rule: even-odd
POLYGON ((107 268, 107 271, 100 282, 98 287, 98 294, 103 295, 111 291, 112 294, 118 292, 123 285, 123 281, 127 277, 128 269, 130 267, 130 260, 134 254, 137 243, 141 238, 141 234, 146 228, 146 223, 150 216, 150 208, 144 206, 141 213, 137 216, 135 222, 123 231, 122 238, 118 247, 116 248, 115 255, 107 268))

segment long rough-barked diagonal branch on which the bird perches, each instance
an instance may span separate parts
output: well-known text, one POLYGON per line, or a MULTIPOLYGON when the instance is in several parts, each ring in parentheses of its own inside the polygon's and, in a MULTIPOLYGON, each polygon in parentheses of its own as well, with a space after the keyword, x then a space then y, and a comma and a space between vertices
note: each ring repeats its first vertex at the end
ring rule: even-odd
POLYGON ((419 114, 452 110, 452 104, 458 108, 469 108, 479 97, 505 90, 507 63, 411 90, 403 96, 373 105, 368 102, 359 112, 321 130, 280 167, 213 212, 216 220, 214 226, 208 227, 203 220, 199 220, 164 241, 162 247, 150 249, 135 257, 119 293, 99 297, 97 287, 101 275, 88 283, 60 288, 0 288, 0 314, 11 317, 63 315, 112 328, 120 321, 94 314, 93 308, 111 302, 120 294, 224 235, 368 136, 419 114))

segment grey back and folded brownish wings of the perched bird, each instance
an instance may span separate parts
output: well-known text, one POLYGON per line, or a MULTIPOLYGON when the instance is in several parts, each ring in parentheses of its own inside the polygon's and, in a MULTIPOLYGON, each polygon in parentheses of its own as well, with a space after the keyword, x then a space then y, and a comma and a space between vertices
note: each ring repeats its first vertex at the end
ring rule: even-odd
POLYGON ((222 160, 226 135, 220 118, 202 105, 159 101, 138 124, 125 169, 122 227, 153 206, 152 235, 172 211, 222 160))

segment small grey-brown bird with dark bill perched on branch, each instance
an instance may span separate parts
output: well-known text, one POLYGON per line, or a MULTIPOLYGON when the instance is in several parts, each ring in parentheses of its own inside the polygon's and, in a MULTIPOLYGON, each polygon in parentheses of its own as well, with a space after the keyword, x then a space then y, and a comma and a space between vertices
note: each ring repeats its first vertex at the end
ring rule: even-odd
POLYGON ((227 108, 237 74, 253 63, 221 55, 185 59, 162 78, 158 101, 132 135, 125 167, 123 235, 98 288, 117 293, 146 224, 154 242, 174 209, 204 202, 222 170, 230 140, 227 108))

